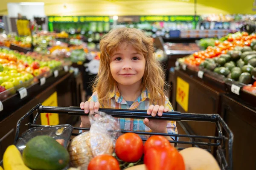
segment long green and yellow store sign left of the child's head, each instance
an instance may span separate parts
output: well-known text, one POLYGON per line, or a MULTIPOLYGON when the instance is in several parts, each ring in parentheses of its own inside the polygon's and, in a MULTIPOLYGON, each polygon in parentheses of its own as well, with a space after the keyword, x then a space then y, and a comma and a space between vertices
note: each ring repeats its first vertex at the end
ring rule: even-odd
POLYGON ((50 23, 109 22, 109 20, 107 16, 48 17, 50 23))

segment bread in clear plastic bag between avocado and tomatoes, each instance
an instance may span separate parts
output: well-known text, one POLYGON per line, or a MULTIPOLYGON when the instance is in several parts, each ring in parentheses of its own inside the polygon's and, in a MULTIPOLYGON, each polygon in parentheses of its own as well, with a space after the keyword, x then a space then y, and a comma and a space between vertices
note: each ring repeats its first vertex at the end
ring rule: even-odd
POLYGON ((82 170, 87 170, 93 157, 112 155, 120 131, 118 122, 104 112, 90 113, 89 120, 90 131, 76 136, 68 147, 71 166, 82 170))

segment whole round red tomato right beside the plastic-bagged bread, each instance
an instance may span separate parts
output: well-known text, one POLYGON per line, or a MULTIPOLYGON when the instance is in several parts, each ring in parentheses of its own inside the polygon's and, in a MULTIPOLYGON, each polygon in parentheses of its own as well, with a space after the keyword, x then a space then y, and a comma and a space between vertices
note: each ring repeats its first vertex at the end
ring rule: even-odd
POLYGON ((125 162, 136 162, 143 155, 143 142, 135 133, 125 133, 116 140, 116 156, 125 162))

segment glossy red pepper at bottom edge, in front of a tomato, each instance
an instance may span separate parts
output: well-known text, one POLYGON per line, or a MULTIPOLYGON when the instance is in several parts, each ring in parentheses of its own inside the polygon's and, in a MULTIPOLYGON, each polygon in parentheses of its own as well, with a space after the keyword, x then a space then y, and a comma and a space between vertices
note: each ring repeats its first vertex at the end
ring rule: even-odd
POLYGON ((144 155, 147 170, 185 170, 180 153, 174 149, 151 147, 144 155))

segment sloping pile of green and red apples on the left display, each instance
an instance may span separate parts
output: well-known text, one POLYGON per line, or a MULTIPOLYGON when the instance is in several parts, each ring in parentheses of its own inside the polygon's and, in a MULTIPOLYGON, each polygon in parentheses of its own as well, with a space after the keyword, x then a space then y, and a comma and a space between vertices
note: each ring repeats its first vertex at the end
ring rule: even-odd
POLYGON ((13 87, 20 88, 24 82, 44 75, 60 65, 61 62, 54 59, 40 61, 29 55, 0 48, 0 92, 13 87))

